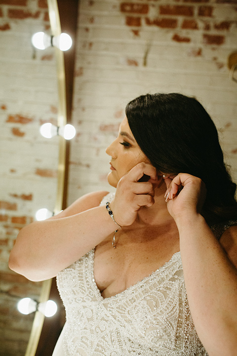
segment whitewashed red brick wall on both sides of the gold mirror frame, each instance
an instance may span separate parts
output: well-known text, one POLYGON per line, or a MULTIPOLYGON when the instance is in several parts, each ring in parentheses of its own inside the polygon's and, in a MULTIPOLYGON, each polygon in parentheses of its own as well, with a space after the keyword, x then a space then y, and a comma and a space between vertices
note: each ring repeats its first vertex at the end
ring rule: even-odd
MULTIPOLYGON (((19 315, 16 301, 40 290, 9 271, 9 251, 35 211, 54 205, 57 139, 39 134, 56 123, 54 54, 30 43, 48 29, 46 0, 0 0, 0 356, 24 355, 32 316, 19 315)), ((237 179, 237 84, 227 66, 236 31, 234 0, 80 0, 69 203, 110 189, 105 149, 126 103, 146 92, 195 95, 237 179)))

